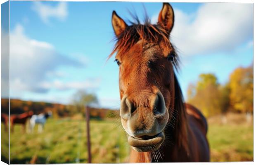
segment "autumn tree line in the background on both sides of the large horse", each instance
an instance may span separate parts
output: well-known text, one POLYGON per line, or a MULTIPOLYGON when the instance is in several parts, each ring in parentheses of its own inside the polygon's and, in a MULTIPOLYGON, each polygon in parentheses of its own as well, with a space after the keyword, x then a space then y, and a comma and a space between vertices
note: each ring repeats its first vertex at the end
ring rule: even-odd
MULTIPOLYGON (((90 108, 91 118, 118 117, 117 111, 97 108, 99 107, 98 99, 93 93, 79 90, 73 94, 72 98, 68 105, 10 99, 10 113, 33 111, 39 114, 52 111, 55 117, 70 117, 78 113, 84 115, 84 107, 87 105, 90 108)), ((253 65, 236 68, 230 74, 228 82, 223 85, 212 73, 200 74, 196 83, 190 83, 186 102, 199 108, 206 117, 225 114, 228 111, 252 113, 253 65)), ((8 99, 1 99, 1 113, 8 113, 8 106, 8 99)))

